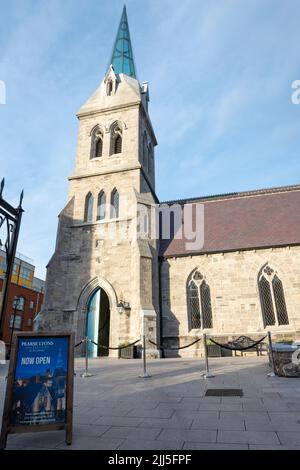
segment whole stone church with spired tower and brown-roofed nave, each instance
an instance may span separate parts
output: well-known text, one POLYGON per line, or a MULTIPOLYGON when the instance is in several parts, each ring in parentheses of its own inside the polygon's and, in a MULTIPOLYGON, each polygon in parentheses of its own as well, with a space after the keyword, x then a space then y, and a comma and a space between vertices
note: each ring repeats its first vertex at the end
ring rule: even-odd
MULTIPOLYGON (((300 186, 160 202, 148 103, 124 7, 110 66, 77 113, 75 168, 37 328, 106 348, 146 334, 158 345, 147 340, 153 357, 203 333, 299 338, 300 186), (191 220, 179 220, 201 232, 199 246, 184 230, 177 236, 175 206, 192 207, 191 220), (167 236, 162 207, 171 209, 167 236)), ((90 355, 106 348, 91 345, 90 355)), ((197 343, 180 355, 201 352, 197 343)))

